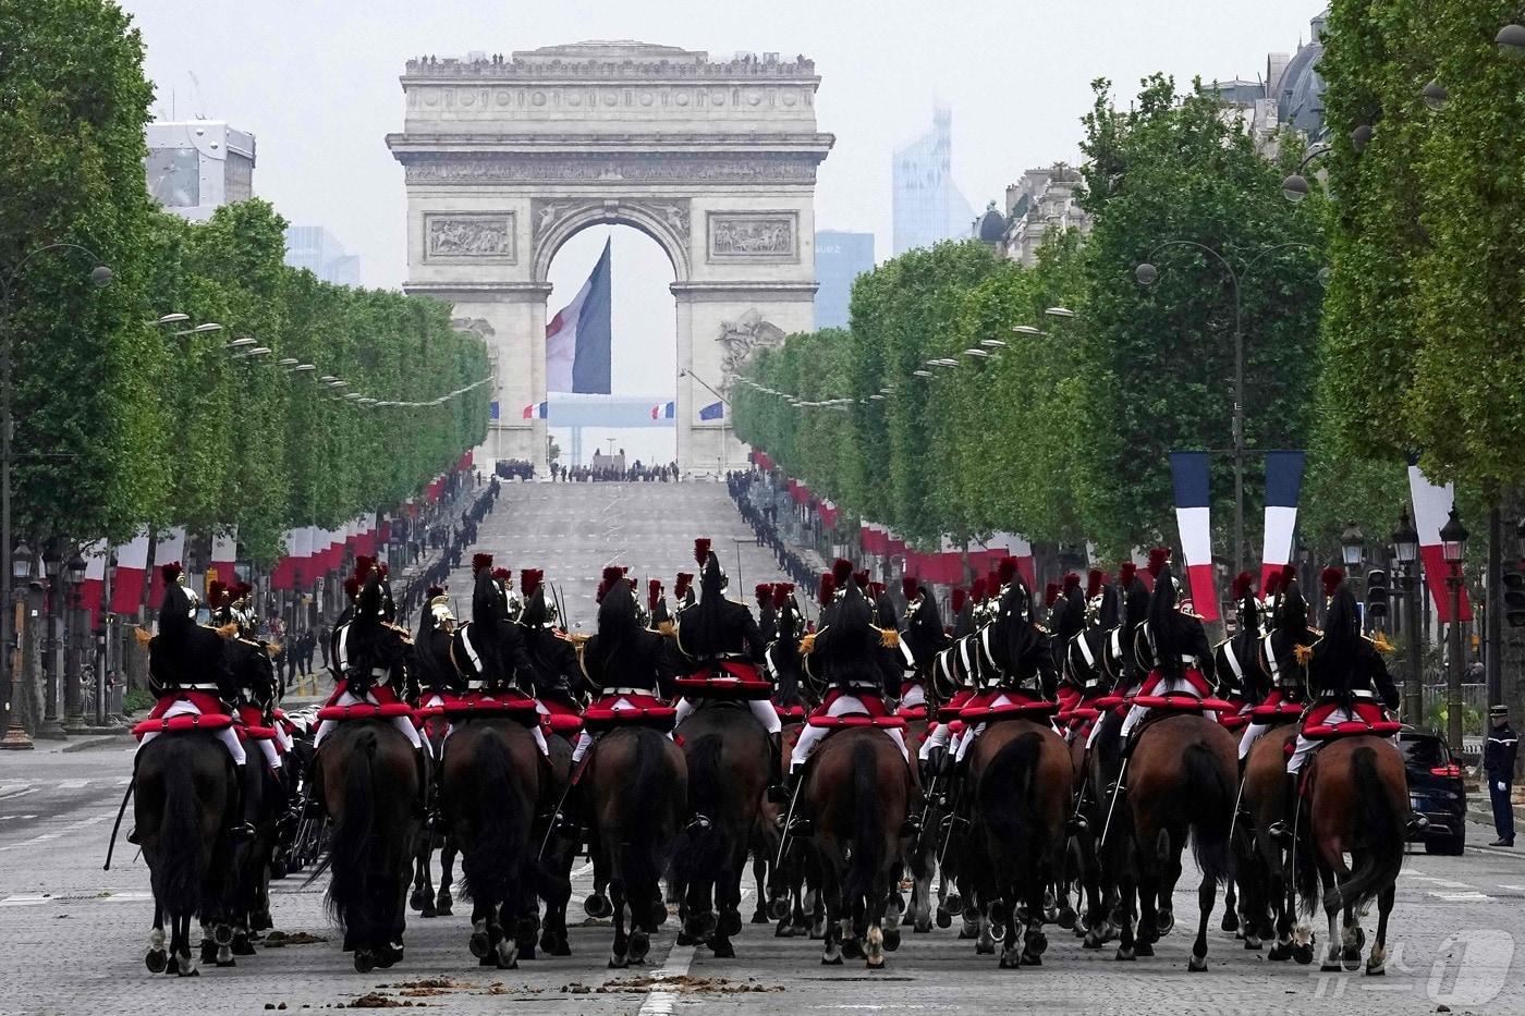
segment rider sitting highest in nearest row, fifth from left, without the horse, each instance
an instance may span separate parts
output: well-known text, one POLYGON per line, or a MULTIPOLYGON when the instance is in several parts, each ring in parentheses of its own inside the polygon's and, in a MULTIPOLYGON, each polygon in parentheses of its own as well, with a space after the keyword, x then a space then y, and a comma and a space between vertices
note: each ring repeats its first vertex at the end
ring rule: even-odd
MULTIPOLYGON (((726 572, 706 537, 694 540, 698 561, 700 600, 677 612, 673 638, 686 676, 708 680, 767 680, 764 671, 767 642, 746 604, 726 600, 726 572)), ((773 589, 762 586, 772 606, 773 589)), ((779 780, 784 755, 784 725, 769 699, 746 700, 752 715, 767 731, 773 780, 779 780)), ((688 699, 677 702, 677 725, 695 709, 688 699)))

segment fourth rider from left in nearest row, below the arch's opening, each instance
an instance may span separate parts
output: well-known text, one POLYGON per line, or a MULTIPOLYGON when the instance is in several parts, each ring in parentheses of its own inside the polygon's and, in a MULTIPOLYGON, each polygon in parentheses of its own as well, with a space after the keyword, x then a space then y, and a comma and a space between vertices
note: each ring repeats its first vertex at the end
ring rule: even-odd
MULTIPOLYGON (((636 600, 624 569, 608 566, 598 592, 598 635, 589 638, 578 651, 578 662, 587 682, 598 688, 598 700, 589 712, 631 712, 662 709, 659 690, 673 679, 666 639, 640 625, 636 600)), ((583 731, 572 761, 581 763, 593 735, 583 731)))

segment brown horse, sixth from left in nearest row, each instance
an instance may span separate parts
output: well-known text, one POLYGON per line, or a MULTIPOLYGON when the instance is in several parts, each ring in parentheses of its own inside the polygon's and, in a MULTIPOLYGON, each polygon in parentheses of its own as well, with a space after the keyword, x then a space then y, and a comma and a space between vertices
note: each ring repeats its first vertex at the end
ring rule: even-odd
POLYGON ((889 897, 897 891, 900 831, 913 796, 910 769, 883 731, 848 728, 816 751, 801 796, 814 816, 827 903, 820 963, 840 964, 846 953, 883 967, 884 950, 900 946, 900 911, 889 909, 889 897))

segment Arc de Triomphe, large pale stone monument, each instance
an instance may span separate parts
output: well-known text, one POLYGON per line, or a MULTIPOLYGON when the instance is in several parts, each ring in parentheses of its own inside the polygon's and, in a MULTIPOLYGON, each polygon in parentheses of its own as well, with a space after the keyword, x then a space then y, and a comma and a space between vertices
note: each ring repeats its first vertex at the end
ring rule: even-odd
MULTIPOLYGON (((551 259, 598 223, 634 226, 673 262, 677 459, 735 465, 732 378, 759 346, 814 320, 814 63, 712 61, 645 43, 410 59, 387 146, 407 177, 409 293, 450 301, 494 354, 499 420, 482 455, 544 467, 551 259), (686 374, 685 374, 686 372, 686 374)), ((570 293, 566 294, 570 299, 570 293)), ((619 323, 616 320, 616 330, 619 323)))

